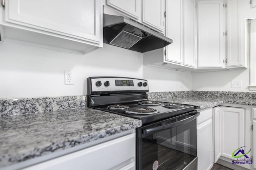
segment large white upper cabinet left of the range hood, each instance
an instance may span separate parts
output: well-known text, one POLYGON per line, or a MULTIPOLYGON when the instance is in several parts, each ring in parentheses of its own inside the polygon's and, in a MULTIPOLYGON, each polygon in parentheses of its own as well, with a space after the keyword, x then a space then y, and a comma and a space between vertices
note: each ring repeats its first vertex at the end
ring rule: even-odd
POLYGON ((6 0, 2 41, 70 51, 103 47, 102 2, 97 0, 6 0))

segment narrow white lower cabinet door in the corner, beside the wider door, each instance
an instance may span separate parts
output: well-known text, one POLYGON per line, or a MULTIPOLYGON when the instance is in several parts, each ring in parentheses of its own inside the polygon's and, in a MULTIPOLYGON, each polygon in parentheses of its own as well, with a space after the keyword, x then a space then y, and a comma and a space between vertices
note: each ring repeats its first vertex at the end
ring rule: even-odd
POLYGON ((214 162, 216 163, 220 158, 220 107, 213 108, 214 118, 214 162))

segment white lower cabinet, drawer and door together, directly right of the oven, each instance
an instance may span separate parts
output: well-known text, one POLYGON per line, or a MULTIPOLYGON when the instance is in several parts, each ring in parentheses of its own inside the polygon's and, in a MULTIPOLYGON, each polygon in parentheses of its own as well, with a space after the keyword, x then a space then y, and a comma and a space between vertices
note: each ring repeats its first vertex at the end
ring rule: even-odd
POLYGON ((212 107, 200 111, 197 135, 198 170, 210 170, 213 166, 212 107))

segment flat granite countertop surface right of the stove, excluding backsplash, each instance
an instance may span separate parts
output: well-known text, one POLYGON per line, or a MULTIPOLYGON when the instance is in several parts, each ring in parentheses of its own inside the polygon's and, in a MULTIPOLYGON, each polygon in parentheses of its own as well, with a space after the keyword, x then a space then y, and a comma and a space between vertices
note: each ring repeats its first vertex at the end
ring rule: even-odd
POLYGON ((218 106, 223 103, 229 104, 244 104, 244 105, 256 105, 256 99, 250 98, 225 98, 216 96, 185 96, 182 98, 162 98, 158 99, 158 102, 170 102, 180 104, 196 105, 197 109, 206 109, 209 107, 218 106))

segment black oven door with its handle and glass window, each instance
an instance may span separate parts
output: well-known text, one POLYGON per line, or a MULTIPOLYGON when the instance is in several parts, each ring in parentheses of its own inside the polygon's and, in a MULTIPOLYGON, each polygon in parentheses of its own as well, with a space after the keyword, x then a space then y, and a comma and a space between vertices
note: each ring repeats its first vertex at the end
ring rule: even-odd
POLYGON ((196 117, 192 111, 137 129, 138 170, 196 170, 196 117))

